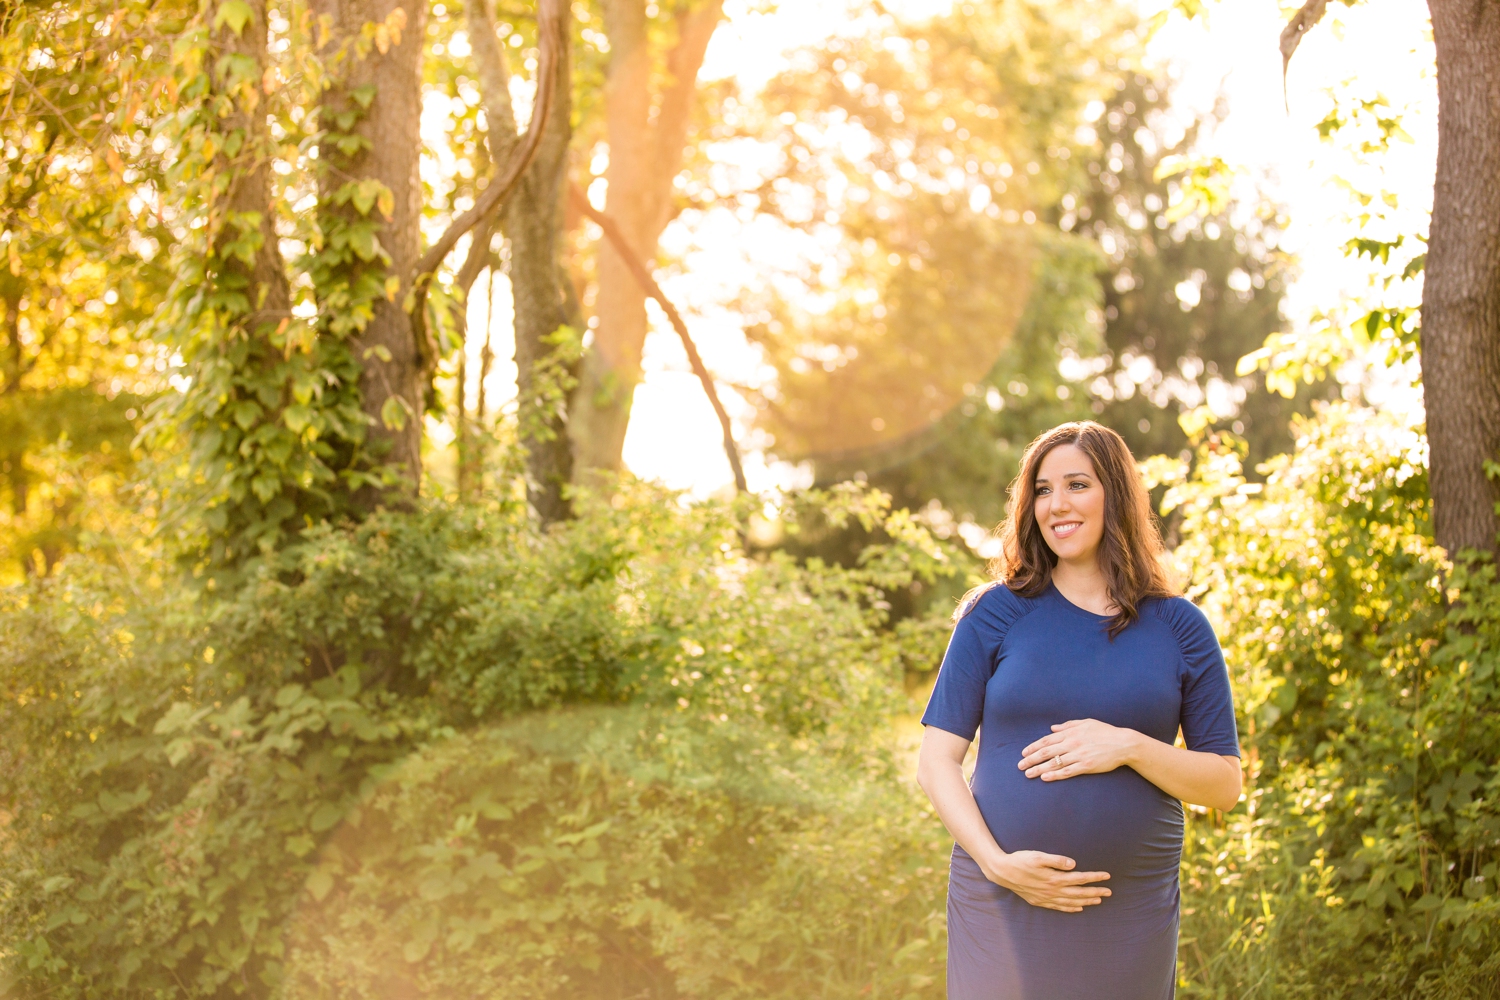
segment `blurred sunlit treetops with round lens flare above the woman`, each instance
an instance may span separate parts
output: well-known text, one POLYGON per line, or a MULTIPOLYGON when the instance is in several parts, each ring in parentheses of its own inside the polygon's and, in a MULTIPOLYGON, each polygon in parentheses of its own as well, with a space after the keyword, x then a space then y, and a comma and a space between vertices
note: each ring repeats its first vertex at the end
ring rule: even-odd
POLYGON ((776 367, 756 396, 776 454, 993 523, 1020 448, 1060 420, 1104 420, 1137 454, 1180 451, 1192 411, 1257 460, 1288 444, 1328 388, 1288 402, 1234 372, 1281 327, 1282 220, 1194 181, 1209 121, 1176 123, 1132 25, 1108 4, 882 12, 724 102, 711 135, 770 165, 734 190, 710 145, 686 193, 816 247, 741 303, 776 367))

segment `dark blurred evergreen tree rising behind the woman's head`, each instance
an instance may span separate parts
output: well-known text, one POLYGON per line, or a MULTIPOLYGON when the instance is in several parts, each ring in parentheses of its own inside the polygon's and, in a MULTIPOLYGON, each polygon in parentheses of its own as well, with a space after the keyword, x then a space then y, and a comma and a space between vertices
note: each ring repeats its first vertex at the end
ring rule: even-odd
POLYGON ((1172 160, 1196 162, 1209 120, 1168 132, 1170 79, 1130 63, 1114 72, 1116 90, 1089 126, 1096 141, 1086 153, 1088 180, 1054 208, 1107 255, 1106 364, 1088 381, 1092 409, 1136 454, 1176 454, 1188 444, 1179 415, 1212 402, 1209 409, 1224 414, 1216 423, 1246 439, 1245 465, 1254 469, 1292 445, 1294 412, 1338 390, 1304 384, 1287 399, 1258 378, 1236 378, 1239 358, 1282 325, 1280 216, 1274 205, 1244 213, 1227 192, 1214 204, 1174 198, 1182 174, 1158 172, 1172 160))

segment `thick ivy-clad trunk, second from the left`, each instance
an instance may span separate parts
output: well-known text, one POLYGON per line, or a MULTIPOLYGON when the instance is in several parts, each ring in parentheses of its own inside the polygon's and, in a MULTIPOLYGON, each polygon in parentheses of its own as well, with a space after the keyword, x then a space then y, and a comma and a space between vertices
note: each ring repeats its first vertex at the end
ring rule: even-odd
MULTIPOLYGON (((351 259, 350 264, 350 295, 357 304, 370 307, 368 321, 352 333, 354 354, 363 369, 362 405, 372 420, 369 451, 376 462, 396 466, 405 492, 416 493, 422 480, 424 375, 432 358, 426 345, 417 343, 404 301, 410 291, 406 276, 420 250, 417 162, 428 4, 418 0, 314 0, 312 6, 315 16, 328 18, 322 57, 338 81, 321 111, 322 127, 338 133, 318 150, 324 162, 318 192, 320 213, 327 222, 324 237, 339 225, 376 217, 376 238, 384 250, 384 256, 374 261, 351 259), (362 39, 366 24, 380 25, 374 39, 362 39), (339 150, 339 136, 357 136, 358 148, 339 150), (358 213, 348 199, 339 204, 340 190, 366 180, 378 181, 390 195, 370 216, 358 213), (387 289, 388 277, 396 277, 400 286, 387 289)), ((376 495, 364 496, 364 504, 376 499, 376 495)))

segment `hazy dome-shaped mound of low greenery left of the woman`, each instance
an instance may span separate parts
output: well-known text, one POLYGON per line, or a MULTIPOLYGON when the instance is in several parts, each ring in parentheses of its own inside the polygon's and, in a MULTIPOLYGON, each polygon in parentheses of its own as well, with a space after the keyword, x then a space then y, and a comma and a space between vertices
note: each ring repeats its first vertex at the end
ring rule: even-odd
POLYGON ((393 765, 322 850, 290 996, 940 996, 946 846, 890 753, 640 708, 393 765))

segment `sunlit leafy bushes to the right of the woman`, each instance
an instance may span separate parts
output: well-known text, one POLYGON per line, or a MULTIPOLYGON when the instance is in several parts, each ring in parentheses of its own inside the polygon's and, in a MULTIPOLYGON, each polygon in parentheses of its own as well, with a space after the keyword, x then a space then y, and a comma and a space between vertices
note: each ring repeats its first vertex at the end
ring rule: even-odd
POLYGON ((1338 405, 1296 430, 1263 487, 1227 442, 1166 477, 1248 769, 1242 810, 1190 825, 1182 993, 1492 996, 1494 567, 1432 544, 1416 429, 1338 405))

